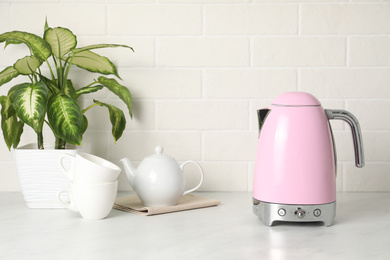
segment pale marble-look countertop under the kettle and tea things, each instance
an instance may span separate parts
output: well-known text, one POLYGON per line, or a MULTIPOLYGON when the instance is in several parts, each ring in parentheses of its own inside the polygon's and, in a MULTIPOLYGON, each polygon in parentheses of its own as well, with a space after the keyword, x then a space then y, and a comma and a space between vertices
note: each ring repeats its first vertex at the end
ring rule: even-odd
POLYGON ((85 220, 0 193, 0 259, 390 259, 390 193, 338 193, 330 227, 267 227, 252 213, 250 193, 195 194, 221 204, 155 216, 112 210, 85 220))

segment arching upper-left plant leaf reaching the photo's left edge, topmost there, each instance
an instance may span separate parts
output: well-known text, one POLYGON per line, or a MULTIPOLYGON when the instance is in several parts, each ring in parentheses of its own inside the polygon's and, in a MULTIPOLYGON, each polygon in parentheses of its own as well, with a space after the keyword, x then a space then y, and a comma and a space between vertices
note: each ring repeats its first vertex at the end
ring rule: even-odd
POLYGON ((0 35, 0 42, 8 44, 24 43, 28 46, 31 54, 41 61, 46 60, 51 55, 50 45, 41 37, 20 31, 6 32, 0 35))

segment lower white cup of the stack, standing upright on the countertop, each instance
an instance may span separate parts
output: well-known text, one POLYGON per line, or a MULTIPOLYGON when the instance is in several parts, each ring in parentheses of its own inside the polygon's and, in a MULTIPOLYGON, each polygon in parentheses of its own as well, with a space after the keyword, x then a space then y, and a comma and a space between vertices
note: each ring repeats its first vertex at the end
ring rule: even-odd
POLYGON ((58 202, 65 208, 79 212, 85 219, 103 219, 110 213, 118 191, 118 181, 86 184, 72 183, 69 190, 57 193, 58 202), (70 202, 62 200, 68 193, 70 202))

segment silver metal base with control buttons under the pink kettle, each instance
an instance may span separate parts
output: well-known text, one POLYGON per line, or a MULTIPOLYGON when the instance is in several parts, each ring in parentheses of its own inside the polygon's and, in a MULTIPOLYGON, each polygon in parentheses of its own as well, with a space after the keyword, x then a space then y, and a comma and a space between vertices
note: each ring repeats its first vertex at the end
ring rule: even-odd
POLYGON ((336 202, 317 205, 276 204, 253 198, 253 212, 266 226, 275 221, 323 222, 331 226, 336 216, 336 202))

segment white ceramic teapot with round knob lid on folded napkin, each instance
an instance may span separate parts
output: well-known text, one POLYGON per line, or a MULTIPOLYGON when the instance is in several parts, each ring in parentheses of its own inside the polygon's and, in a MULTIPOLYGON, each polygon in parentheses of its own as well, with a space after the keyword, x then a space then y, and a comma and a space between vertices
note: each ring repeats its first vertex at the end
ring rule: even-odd
POLYGON ((174 206, 181 196, 200 187, 203 182, 203 170, 194 161, 185 161, 179 165, 175 159, 163 154, 161 146, 157 146, 155 151, 156 154, 146 157, 137 169, 127 158, 121 159, 121 162, 124 165, 131 187, 133 187, 144 206, 174 206), (184 191, 183 168, 187 163, 193 163, 199 168, 201 178, 196 187, 184 191))

